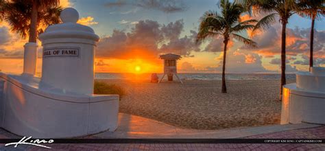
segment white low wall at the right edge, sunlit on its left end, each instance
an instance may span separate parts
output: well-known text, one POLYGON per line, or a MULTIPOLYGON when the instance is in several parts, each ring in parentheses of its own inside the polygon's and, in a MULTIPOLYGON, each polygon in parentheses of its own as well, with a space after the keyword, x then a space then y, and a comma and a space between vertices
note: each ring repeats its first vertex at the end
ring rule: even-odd
POLYGON ((325 93, 302 91, 296 84, 283 87, 281 124, 325 124, 325 93))

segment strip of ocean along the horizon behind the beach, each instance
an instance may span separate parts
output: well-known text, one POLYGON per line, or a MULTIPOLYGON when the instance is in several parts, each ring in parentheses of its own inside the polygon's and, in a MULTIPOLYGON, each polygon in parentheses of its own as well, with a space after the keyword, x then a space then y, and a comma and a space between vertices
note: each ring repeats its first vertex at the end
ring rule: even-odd
MULTIPOLYGON (((159 78, 163 73, 157 74, 159 78)), ((178 73, 186 80, 221 80, 221 73, 178 73)), ((287 80, 295 80, 296 74, 287 74, 287 80)), ((166 76, 165 76, 166 78, 166 76)), ((176 78, 176 77, 174 77, 176 78)), ((151 73, 95 73, 95 79, 150 80, 151 73)), ((280 80, 277 73, 226 73, 227 80, 280 80)))

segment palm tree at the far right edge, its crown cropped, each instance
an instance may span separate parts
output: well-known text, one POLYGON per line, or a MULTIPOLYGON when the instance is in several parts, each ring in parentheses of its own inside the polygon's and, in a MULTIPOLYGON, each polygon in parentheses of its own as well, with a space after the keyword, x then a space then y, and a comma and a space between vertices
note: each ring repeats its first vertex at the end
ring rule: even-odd
MULTIPOLYGON (((320 19, 320 15, 325 15, 324 0, 302 0, 302 8, 298 11, 300 16, 311 19, 311 41, 310 41, 310 56, 309 67, 313 67, 313 43, 314 43, 314 26, 315 19, 320 19)), ((309 68, 310 69, 310 68, 309 68)))

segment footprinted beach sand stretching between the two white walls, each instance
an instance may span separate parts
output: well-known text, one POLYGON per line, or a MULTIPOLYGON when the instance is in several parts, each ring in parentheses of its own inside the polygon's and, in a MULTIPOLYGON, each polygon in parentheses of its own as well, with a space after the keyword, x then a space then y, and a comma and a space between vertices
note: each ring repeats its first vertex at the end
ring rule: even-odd
POLYGON ((280 80, 228 80, 228 93, 221 93, 219 80, 185 80, 184 84, 97 81, 125 89, 120 113, 156 119, 181 128, 215 130, 280 124, 280 80))

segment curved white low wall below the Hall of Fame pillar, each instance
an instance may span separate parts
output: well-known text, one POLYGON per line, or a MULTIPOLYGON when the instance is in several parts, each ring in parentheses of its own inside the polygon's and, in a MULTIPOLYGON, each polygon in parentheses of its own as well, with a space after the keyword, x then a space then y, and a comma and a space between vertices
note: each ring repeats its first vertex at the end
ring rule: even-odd
POLYGON ((35 138, 91 135, 117 128, 119 95, 80 95, 39 89, 38 78, 0 73, 3 100, 0 125, 10 132, 35 138))

